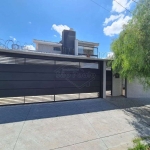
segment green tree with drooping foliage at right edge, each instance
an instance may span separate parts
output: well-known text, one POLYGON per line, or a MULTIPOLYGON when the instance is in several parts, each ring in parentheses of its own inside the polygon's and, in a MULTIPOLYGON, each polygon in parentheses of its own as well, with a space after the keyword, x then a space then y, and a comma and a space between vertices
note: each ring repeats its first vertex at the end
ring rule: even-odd
POLYGON ((150 88, 150 0, 139 0, 132 19, 112 42, 112 68, 124 78, 134 78, 150 88))

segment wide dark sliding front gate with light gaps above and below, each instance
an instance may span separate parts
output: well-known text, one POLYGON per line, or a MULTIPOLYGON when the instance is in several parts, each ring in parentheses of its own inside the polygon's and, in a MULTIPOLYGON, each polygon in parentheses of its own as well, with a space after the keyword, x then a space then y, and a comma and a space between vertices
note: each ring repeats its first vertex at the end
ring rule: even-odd
POLYGON ((0 51, 0 104, 102 97, 103 62, 0 51))

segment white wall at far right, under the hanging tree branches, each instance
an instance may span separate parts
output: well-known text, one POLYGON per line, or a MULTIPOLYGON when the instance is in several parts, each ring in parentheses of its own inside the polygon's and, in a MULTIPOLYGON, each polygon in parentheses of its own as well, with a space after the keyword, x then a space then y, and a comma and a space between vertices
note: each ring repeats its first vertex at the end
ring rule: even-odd
POLYGON ((127 97, 128 98, 150 98, 150 90, 144 91, 143 86, 134 80, 132 83, 127 81, 127 97))

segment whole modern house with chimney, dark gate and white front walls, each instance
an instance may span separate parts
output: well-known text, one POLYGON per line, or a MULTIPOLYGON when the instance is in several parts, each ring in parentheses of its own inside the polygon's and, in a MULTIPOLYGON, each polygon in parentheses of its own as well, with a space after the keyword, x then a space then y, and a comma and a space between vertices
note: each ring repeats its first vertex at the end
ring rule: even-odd
POLYGON ((99 43, 64 30, 58 43, 34 40, 35 51, 0 48, 0 104, 110 96, 150 98, 136 80, 129 83, 98 58, 99 43), (8 100, 8 101, 7 101, 8 100))

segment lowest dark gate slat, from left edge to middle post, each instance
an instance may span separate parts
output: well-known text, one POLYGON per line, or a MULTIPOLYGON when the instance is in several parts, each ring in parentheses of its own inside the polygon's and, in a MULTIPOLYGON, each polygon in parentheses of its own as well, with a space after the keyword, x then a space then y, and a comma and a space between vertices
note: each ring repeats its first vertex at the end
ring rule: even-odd
POLYGON ((14 89, 0 90, 0 97, 18 97, 18 96, 38 96, 38 95, 53 95, 54 89, 14 89))

